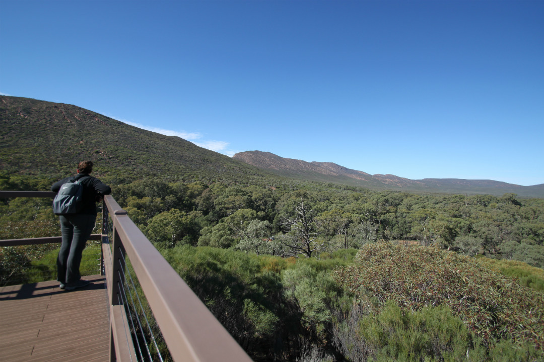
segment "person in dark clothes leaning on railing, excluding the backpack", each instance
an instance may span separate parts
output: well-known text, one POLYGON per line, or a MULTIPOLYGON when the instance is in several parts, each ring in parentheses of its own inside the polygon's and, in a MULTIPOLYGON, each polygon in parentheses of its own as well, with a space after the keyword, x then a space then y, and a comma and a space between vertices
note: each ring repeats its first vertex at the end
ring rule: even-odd
POLYGON ((66 177, 51 186, 51 190, 58 193, 61 186, 74 179, 83 185, 82 205, 79 211, 76 214, 59 215, 63 238, 57 258, 57 280, 60 282, 60 289, 73 290, 89 285, 88 281, 81 279, 79 264, 85 243, 95 227, 96 202, 102 201, 104 195, 112 193, 109 186, 90 176, 91 172, 91 161, 79 162, 76 176, 66 177))

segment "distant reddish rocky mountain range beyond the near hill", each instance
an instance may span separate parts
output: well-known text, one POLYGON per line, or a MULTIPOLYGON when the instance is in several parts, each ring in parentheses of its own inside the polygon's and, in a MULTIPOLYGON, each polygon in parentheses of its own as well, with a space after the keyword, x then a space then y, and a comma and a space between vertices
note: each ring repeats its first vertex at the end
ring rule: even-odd
POLYGON ((281 176, 313 181, 344 183, 346 185, 372 189, 492 195, 515 193, 520 196, 544 197, 544 184, 520 186, 492 180, 410 180, 395 175, 370 175, 366 172, 349 169, 332 162, 306 162, 294 160, 292 158, 283 158, 262 151, 241 152, 234 155, 233 158, 281 176))

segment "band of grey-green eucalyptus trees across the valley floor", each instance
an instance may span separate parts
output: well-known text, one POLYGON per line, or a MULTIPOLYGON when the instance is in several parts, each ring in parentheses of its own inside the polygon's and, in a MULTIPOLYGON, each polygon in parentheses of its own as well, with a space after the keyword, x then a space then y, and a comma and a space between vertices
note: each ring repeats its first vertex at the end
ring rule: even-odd
MULTIPOLYGON (((48 189, 53 181, 0 174, 2 189, 48 189)), ((298 243, 297 209, 304 203, 316 255, 378 239, 415 240, 469 256, 480 252, 544 265, 542 199, 373 192, 251 177, 215 182, 143 178, 113 186, 115 199, 150 240, 170 247, 242 242, 239 249, 246 251, 290 253, 298 243), (275 238, 274 247, 262 243, 276 236, 284 237, 275 238)), ((47 201, 2 200, 0 221, 54 219, 47 201)))

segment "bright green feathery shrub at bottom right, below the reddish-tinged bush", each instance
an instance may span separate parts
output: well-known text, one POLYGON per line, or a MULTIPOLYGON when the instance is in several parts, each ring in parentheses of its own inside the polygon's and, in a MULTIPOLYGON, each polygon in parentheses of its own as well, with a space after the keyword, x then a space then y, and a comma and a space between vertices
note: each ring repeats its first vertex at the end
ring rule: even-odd
POLYGON ((353 361, 536 361, 534 346, 510 340, 491 346, 453 315, 447 306, 417 312, 387 301, 380 313, 361 314, 355 306, 335 325, 335 344, 353 361))

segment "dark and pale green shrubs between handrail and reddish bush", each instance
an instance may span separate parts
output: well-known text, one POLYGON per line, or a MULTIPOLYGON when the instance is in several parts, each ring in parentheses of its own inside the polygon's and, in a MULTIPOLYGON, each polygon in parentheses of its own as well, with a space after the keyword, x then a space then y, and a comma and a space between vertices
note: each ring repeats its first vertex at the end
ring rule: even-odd
POLYGON ((254 360, 331 352, 332 310, 350 304, 330 274, 348 263, 345 252, 322 261, 189 245, 161 252, 254 360))

